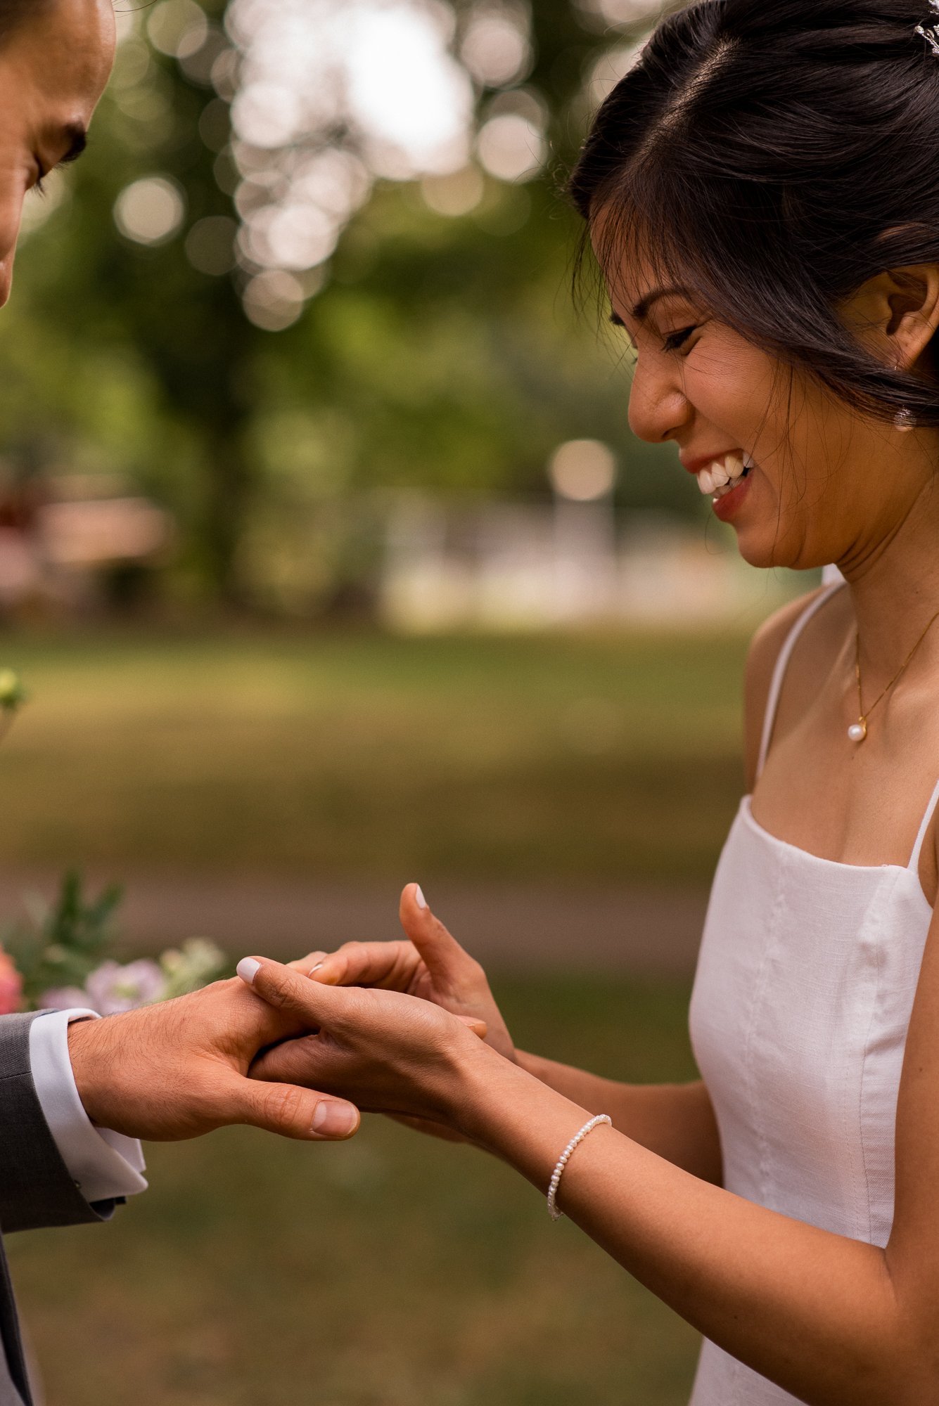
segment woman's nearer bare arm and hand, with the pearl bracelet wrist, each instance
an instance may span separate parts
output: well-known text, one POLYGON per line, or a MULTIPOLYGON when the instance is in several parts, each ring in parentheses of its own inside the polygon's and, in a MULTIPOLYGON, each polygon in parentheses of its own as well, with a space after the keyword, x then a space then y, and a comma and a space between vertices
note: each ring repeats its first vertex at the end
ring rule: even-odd
MULTIPOLYGON (((329 990, 261 963, 256 990, 320 1035, 278 1046, 259 1077, 443 1122, 541 1192, 593 1112, 502 1059, 453 1017, 398 993, 329 990)), ((939 1400, 939 922, 909 1029, 886 1250, 777 1215, 597 1128, 561 1208, 630 1274, 748 1367, 810 1406, 939 1400)))

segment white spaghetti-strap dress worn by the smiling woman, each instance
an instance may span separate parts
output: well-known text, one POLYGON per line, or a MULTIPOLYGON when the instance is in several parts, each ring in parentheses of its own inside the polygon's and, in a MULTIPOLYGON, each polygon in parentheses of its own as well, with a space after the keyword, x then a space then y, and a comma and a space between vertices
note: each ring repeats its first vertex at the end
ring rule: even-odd
MULTIPOLYGON (((796 640, 776 666, 760 770, 796 640)), ((721 1135, 728 1191, 884 1246, 894 1212, 897 1091, 932 908, 919 853, 859 868, 818 859, 739 808, 714 880, 692 997, 692 1043, 721 1135)), ((692 1406, 794 1396, 704 1343, 692 1406)), ((846 1403, 848 1406, 848 1403, 846 1403)))

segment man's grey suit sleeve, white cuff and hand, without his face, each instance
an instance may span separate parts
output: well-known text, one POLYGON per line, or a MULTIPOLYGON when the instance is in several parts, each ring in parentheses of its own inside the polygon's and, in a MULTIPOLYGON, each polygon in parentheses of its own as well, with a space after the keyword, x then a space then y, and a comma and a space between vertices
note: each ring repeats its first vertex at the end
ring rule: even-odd
MULTIPOLYGON (((0 1018, 0 1226, 107 1220, 146 1188, 139 1137, 198 1137, 250 1123, 340 1140, 358 1111, 291 1084, 247 1078, 257 1052, 305 1033, 242 981, 97 1019, 93 1011, 0 1018)), ((31 1406, 0 1249, 0 1406, 31 1406)))

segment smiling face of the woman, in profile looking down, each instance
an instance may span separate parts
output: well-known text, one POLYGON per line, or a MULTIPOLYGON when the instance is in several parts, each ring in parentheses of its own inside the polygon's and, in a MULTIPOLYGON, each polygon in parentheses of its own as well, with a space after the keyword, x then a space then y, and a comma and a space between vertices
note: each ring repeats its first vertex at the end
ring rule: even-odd
POLYGON ((790 375, 693 294, 661 287, 641 260, 607 284, 637 353, 630 425, 640 439, 678 444, 744 558, 850 571, 876 557, 931 477, 925 457, 909 454, 914 436, 790 375))

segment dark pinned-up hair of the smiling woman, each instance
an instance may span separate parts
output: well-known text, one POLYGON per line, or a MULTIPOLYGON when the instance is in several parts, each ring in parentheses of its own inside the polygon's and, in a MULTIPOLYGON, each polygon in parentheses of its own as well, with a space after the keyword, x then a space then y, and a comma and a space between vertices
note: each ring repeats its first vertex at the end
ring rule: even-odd
POLYGON ((886 269, 939 264, 939 56, 917 34, 938 22, 928 0, 701 0, 666 18, 571 177, 583 218, 603 212, 604 266, 641 247, 842 401, 939 426, 939 381, 883 366, 838 312, 886 269))

